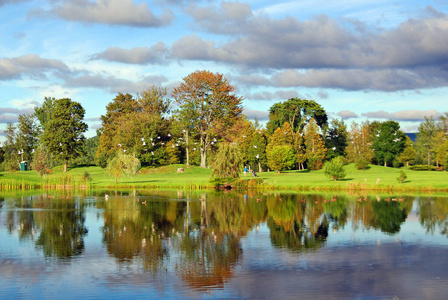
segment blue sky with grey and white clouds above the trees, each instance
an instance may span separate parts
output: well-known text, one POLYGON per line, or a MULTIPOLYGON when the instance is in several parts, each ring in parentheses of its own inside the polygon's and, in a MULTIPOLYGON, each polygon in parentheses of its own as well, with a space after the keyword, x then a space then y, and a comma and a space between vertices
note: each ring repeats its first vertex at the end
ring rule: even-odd
POLYGON ((218 72, 262 124, 292 97, 330 119, 400 123, 448 112, 448 1, 0 0, 0 141, 44 97, 86 110, 218 72))

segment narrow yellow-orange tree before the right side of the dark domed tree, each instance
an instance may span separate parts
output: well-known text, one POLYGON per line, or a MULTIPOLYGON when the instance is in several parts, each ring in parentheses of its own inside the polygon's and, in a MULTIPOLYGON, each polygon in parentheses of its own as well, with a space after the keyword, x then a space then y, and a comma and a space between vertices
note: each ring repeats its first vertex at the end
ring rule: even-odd
POLYGON ((323 166, 327 148, 322 136, 319 134, 319 127, 314 119, 311 119, 305 127, 305 147, 306 159, 309 170, 317 170, 323 166))

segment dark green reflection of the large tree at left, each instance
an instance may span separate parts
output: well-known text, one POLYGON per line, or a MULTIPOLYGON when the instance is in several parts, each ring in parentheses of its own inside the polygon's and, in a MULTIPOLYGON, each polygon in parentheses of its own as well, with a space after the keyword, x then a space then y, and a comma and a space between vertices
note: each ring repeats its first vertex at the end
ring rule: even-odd
POLYGON ((36 245, 46 256, 64 258, 82 253, 87 234, 82 205, 74 200, 52 201, 51 209, 38 221, 41 231, 36 245))

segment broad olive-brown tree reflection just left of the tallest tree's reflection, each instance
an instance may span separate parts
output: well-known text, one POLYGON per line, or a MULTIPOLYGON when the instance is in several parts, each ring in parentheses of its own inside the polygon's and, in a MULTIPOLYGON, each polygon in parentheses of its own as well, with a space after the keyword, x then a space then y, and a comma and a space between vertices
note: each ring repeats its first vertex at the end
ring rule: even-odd
POLYGON ((105 206, 103 241, 119 261, 141 259, 156 273, 169 254, 167 238, 183 227, 185 203, 114 198, 105 206))

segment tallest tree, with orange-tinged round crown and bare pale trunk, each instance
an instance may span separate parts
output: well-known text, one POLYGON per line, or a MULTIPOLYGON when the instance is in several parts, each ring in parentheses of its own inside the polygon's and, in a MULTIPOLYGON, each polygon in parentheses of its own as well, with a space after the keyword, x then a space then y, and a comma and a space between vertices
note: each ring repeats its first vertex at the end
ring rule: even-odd
POLYGON ((242 97, 233 92, 223 75, 196 71, 183 78, 174 89, 180 119, 189 120, 192 131, 199 136, 201 167, 207 164, 207 151, 215 138, 225 135, 242 112, 242 97))

